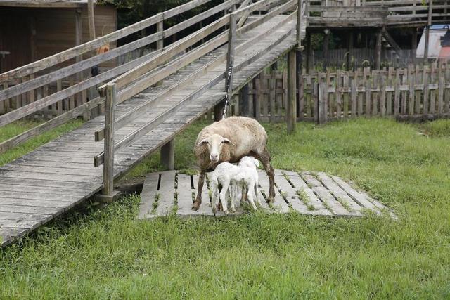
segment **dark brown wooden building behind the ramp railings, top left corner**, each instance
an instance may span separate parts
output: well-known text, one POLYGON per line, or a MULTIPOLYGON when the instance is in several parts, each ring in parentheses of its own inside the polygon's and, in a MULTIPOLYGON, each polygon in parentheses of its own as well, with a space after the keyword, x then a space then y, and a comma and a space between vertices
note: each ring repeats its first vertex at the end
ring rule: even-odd
POLYGON ((0 73, 82 44, 93 39, 93 34, 100 37, 114 32, 115 7, 95 2, 0 1, 0 73), (90 7, 94 9, 92 28, 90 7))

